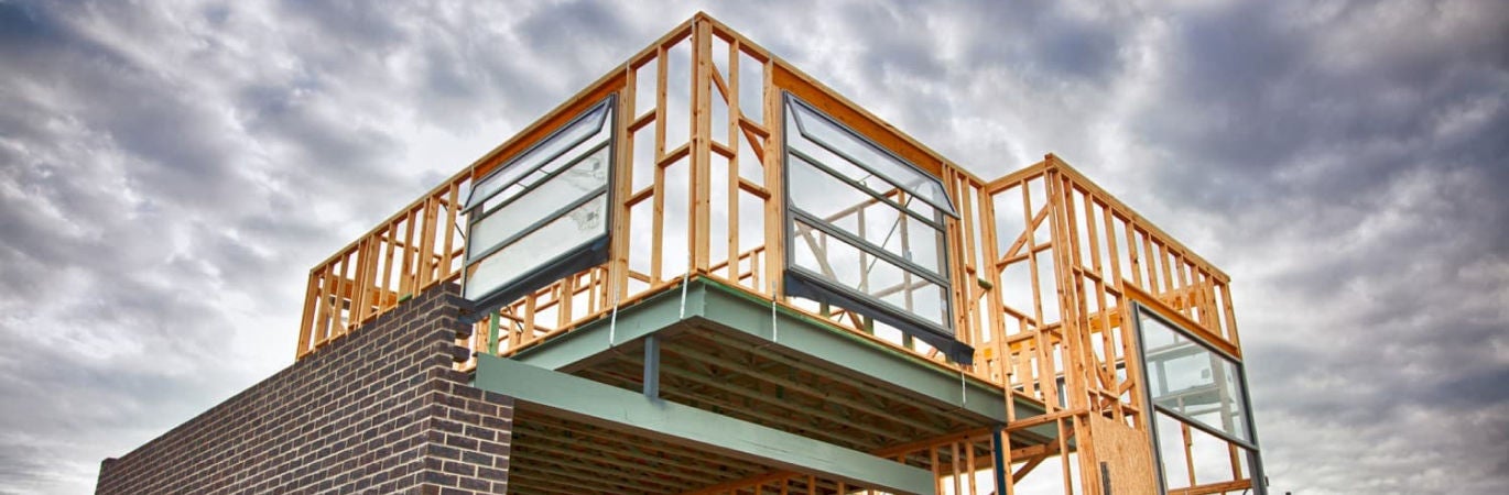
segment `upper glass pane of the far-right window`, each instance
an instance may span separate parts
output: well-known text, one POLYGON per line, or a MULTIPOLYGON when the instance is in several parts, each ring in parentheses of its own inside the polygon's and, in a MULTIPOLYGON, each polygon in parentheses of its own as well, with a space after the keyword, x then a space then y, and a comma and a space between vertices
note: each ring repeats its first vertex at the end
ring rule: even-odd
POLYGON ((1239 441, 1251 441, 1237 365, 1147 314, 1139 327, 1153 403, 1239 441))

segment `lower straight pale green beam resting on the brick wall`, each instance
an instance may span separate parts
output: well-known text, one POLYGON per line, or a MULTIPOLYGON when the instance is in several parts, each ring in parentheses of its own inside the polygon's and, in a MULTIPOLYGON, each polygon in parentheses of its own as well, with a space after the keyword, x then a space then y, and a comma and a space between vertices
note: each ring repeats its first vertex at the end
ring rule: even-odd
POLYGON ((515 359, 478 356, 477 388, 573 421, 632 430, 730 457, 887 492, 936 493, 933 474, 924 469, 515 359))

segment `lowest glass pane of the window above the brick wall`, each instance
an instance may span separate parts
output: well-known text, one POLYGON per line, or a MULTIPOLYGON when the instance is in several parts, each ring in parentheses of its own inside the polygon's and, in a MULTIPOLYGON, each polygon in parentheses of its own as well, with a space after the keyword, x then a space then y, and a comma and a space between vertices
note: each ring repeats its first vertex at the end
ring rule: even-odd
POLYGON ((498 249, 471 267, 466 275, 466 299, 478 299, 533 272, 561 254, 607 235, 608 195, 567 211, 551 223, 498 249))

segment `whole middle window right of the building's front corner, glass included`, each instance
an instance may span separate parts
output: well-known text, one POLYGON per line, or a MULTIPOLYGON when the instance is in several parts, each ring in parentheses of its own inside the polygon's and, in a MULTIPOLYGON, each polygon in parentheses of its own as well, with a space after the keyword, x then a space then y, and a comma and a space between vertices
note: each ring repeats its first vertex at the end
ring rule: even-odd
POLYGON ((943 183, 786 95, 786 291, 895 326, 970 362, 954 338, 943 183))

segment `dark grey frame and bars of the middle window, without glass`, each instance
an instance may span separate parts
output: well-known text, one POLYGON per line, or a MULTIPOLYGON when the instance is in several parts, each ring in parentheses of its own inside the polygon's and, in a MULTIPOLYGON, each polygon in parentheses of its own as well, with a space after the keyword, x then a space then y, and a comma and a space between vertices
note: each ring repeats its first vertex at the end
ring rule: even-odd
POLYGON ((951 278, 951 275, 952 275, 951 272, 952 272, 954 266, 951 263, 949 252, 948 252, 948 232, 949 232, 948 231, 948 220, 943 216, 951 216, 951 217, 958 219, 958 213, 955 211, 954 205, 949 202, 948 189, 943 187, 945 186, 943 181, 940 178, 937 178, 937 177, 933 177, 933 174, 928 174, 927 171, 917 168, 910 160, 898 157, 895 152, 892 152, 886 146, 881 146, 880 143, 874 142, 868 136, 865 136, 865 134, 853 130, 851 127, 845 125, 844 122, 839 122, 837 119, 834 119, 834 118, 828 116, 827 113, 818 110, 812 104, 807 104, 806 101, 801 101, 801 98, 798 98, 794 94, 791 94, 789 91, 783 91, 782 92, 782 107, 780 109, 782 109, 782 112, 780 112, 780 119, 782 119, 780 121, 782 122, 782 125, 780 125, 780 133, 782 133, 782 136, 780 136, 782 137, 782 149, 780 149, 782 166, 780 166, 780 174, 782 174, 782 189, 783 189, 782 190, 782 196, 783 196, 783 208, 782 208, 782 235, 783 235, 783 241, 782 243, 783 243, 783 249, 786 252, 786 255, 783 257, 785 258, 783 260, 785 267, 783 267, 783 272, 782 272, 782 281, 783 281, 783 284, 786 287, 786 294, 788 296, 807 297, 807 299, 816 300, 819 303, 831 303, 831 305, 837 305, 837 306, 842 306, 842 308, 848 308, 848 309, 862 312, 862 314, 865 314, 865 315, 868 315, 871 318, 875 318, 875 320, 878 320, 881 323, 886 323, 886 324, 890 324, 890 326, 896 327, 898 331, 901 331, 902 335, 905 335, 905 338, 919 338, 919 340, 922 340, 928 346, 933 346, 933 347, 939 349, 940 352, 943 352, 949 359, 952 359, 955 362, 966 364, 966 365, 972 364, 973 362, 973 347, 970 347, 970 346, 958 341, 958 332, 957 332, 957 329, 954 329, 954 323, 955 323, 954 321, 955 320, 955 314, 954 314, 954 287, 952 287, 952 281, 951 281, 952 279, 951 278), (865 161, 851 157, 850 154, 837 149, 837 146, 834 146, 831 143, 827 143, 827 142, 824 142, 821 139, 810 137, 810 134, 804 128, 804 124, 801 122, 801 118, 792 115, 792 110, 791 110, 792 106, 801 106, 810 116, 822 119, 827 124, 831 124, 837 130, 841 130, 844 133, 848 133, 851 137, 856 137, 857 140, 860 140, 860 143, 874 148, 874 151, 878 151, 878 152, 884 154, 886 157, 889 157, 892 160, 896 160, 898 163, 905 164, 907 168, 910 168, 911 171, 920 174, 925 178, 931 178, 931 180, 937 181, 937 186, 940 187, 940 192, 943 193, 943 202, 945 202, 945 205, 940 207, 934 201, 930 201, 930 199, 927 199, 927 198, 924 198, 920 195, 914 195, 910 189, 902 187, 901 184, 896 184, 896 181, 893 178, 887 177, 886 174, 880 174, 880 172, 874 171, 871 166, 863 164, 865 161), (815 158, 812 155, 807 155, 806 152, 801 152, 800 149, 792 148, 792 145, 791 145, 791 137, 792 137, 791 127, 792 125, 788 125, 791 122, 797 124, 795 125, 797 127, 795 131, 800 134, 801 139, 806 139, 806 140, 809 140, 809 142, 821 146, 822 149, 827 149, 828 152, 834 154, 841 160, 847 160, 851 166, 856 166, 856 168, 859 168, 862 171, 871 172, 875 178, 880 178, 880 180, 886 181, 886 184, 893 186, 895 189, 905 192, 908 196, 928 204, 928 207, 936 211, 936 214, 939 216, 939 219, 928 219, 928 217, 922 216, 920 213, 908 208, 907 205, 899 204, 899 202, 896 202, 896 201, 893 201, 890 198, 886 198, 884 195, 881 195, 881 193, 872 190, 872 189, 869 189, 868 186, 863 186, 859 181, 856 181, 856 180, 853 180, 850 177, 845 177, 844 174, 839 174, 839 172, 830 169, 828 166, 824 166, 822 161, 819 161, 818 158, 815 158), (871 196, 871 198, 874 198, 874 199, 877 199, 877 201, 880 201, 880 202, 883 202, 883 204, 886 204, 886 205, 898 210, 898 217, 896 217, 898 222, 904 222, 904 219, 907 216, 910 216, 910 217, 913 217, 916 220, 920 220, 920 222, 927 223, 927 226, 934 228, 937 231, 937 235, 939 235, 937 257, 939 257, 939 266, 940 266, 942 270, 940 272, 934 272, 933 269, 922 267, 920 264, 917 264, 917 263, 914 263, 911 260, 905 260, 904 257, 899 257, 899 255, 887 251, 886 247, 875 246, 874 243, 871 243, 868 240, 859 238, 857 235, 854 235, 851 232, 847 232, 847 231, 844 231, 839 226, 831 225, 828 220, 819 219, 815 214, 810 214, 807 211, 798 211, 798 207, 795 205, 795 201, 791 198, 791 158, 794 155, 798 160, 806 161, 806 164, 812 166, 818 174, 827 174, 828 177, 833 177, 833 178, 842 181, 844 184, 847 184, 847 186, 850 186, 850 187, 853 187, 853 189, 856 189, 859 192, 863 192, 865 195, 868 195, 868 196, 871 196), (859 290, 854 290, 851 287, 847 287, 844 284, 830 281, 825 276, 822 276, 819 273, 813 273, 809 269, 795 266, 795 263, 794 263, 795 257, 792 257, 792 254, 795 252, 795 241, 797 241, 797 238, 795 238, 797 237, 795 235, 795 228, 797 228, 797 222, 801 222, 801 223, 810 226, 812 229, 815 229, 818 232, 822 232, 822 234, 825 234, 828 237, 833 237, 833 238, 836 238, 836 240, 839 240, 842 243, 848 243, 851 247, 854 247, 854 249, 857 249, 860 252, 865 252, 865 254, 872 255, 872 257, 875 257, 878 260, 890 263, 890 264, 896 266, 898 269, 901 269, 901 270, 904 270, 904 272, 907 272, 907 273, 910 273, 913 276, 919 276, 919 278, 925 279, 927 282, 936 284, 942 290, 942 296, 943 296, 942 300, 940 300, 940 305, 942 305, 942 309, 943 309, 943 321, 945 321, 945 324, 934 324, 933 321, 928 321, 924 317, 920 317, 917 314, 913 314, 911 311, 908 311, 905 308, 899 308, 899 306, 896 306, 896 305, 893 305, 890 302, 884 302, 884 300, 881 300, 881 299, 878 299, 875 296, 865 294, 865 293, 862 293, 859 290))

